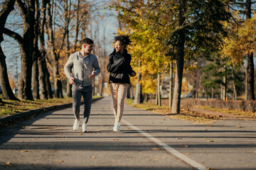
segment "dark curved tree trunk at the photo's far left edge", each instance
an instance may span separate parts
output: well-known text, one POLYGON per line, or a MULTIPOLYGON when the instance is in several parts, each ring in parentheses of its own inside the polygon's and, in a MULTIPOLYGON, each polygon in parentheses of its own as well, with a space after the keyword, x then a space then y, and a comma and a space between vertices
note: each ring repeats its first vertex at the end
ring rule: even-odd
MULTIPOLYGON (((11 13, 12 10, 14 10, 14 3, 13 0, 6 0, 4 6, 2 6, 0 11, 0 44, 2 41, 4 41, 3 38, 3 29, 4 25, 6 23, 6 19, 11 13)), ((6 56, 4 55, 3 50, 1 49, 0 45, 0 84, 2 89, 2 98, 5 98, 7 100, 15 100, 18 101, 18 98, 14 96, 14 93, 11 91, 11 86, 9 84, 9 78, 7 74, 7 67, 6 67, 6 56)), ((0 102, 1 98, 0 98, 0 102)))

